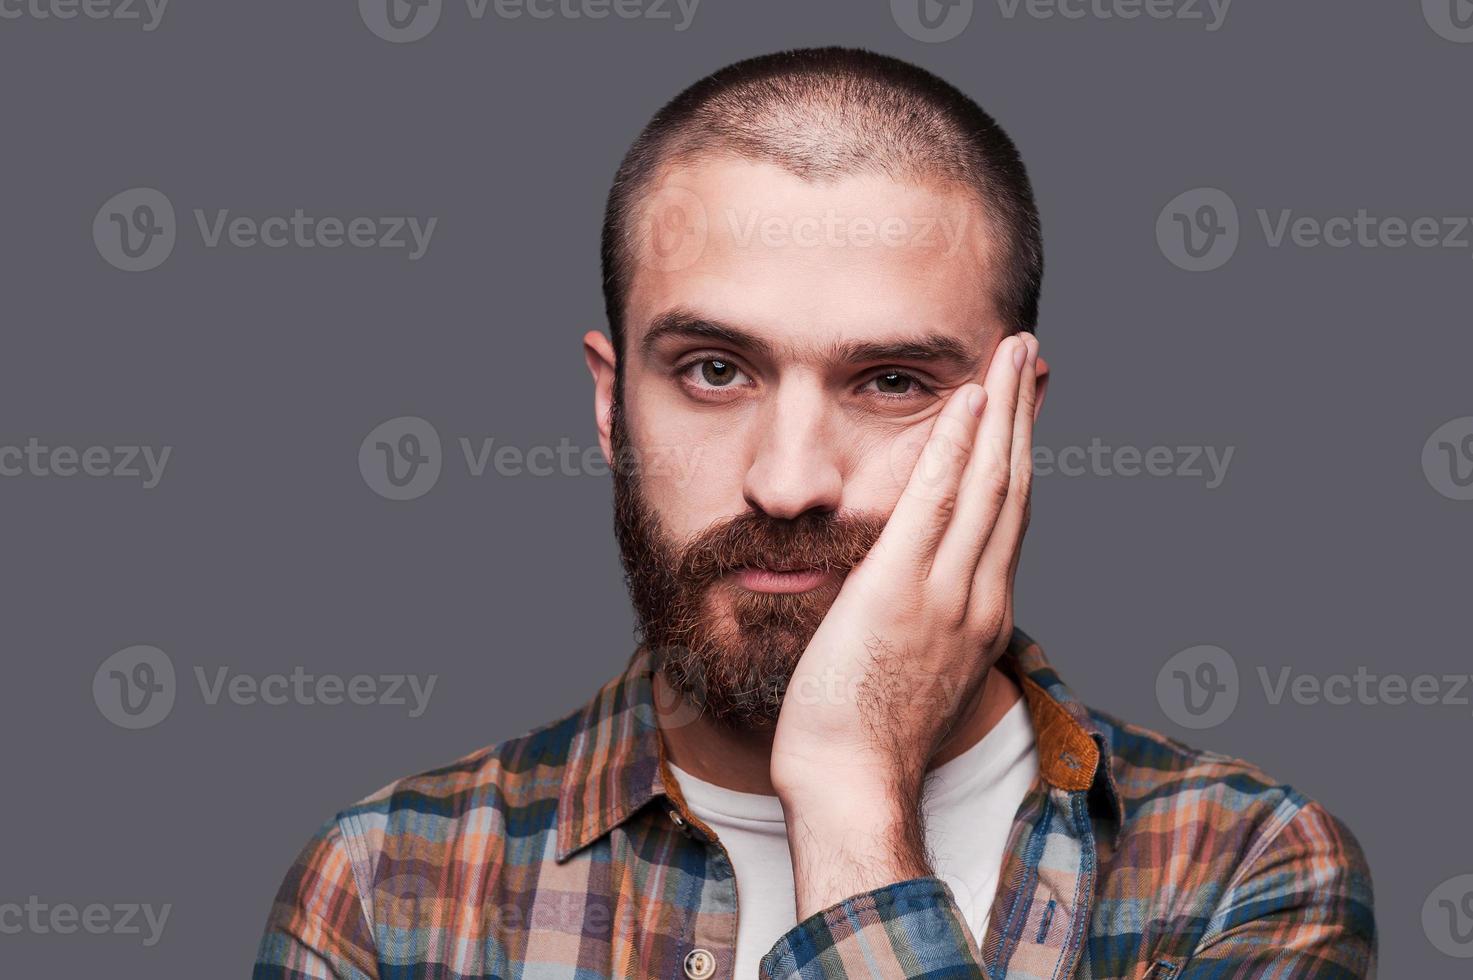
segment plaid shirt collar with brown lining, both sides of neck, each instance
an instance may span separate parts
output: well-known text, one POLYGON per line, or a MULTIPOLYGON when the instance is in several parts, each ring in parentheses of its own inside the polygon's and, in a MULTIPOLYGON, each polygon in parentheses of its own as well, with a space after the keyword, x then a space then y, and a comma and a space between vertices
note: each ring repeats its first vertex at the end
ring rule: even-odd
MULTIPOLYGON (((1055 788, 1097 797, 1114 827, 1124 819, 1111 772, 1109 732, 1064 685, 1024 631, 1013 629, 999 668, 1022 690, 1038 747, 1038 775, 1055 788)), ((654 709, 654 659, 641 645, 623 673, 579 712, 557 806, 557 861, 598 840, 657 796, 679 800, 666 780, 654 709)))

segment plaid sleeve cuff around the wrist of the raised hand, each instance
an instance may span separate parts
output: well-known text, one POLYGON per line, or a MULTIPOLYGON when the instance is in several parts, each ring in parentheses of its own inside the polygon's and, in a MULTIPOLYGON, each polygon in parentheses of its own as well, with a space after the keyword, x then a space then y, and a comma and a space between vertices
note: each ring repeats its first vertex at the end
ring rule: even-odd
POLYGON ((897 881, 815 912, 762 959, 763 980, 982 977, 981 955, 934 875, 897 881))

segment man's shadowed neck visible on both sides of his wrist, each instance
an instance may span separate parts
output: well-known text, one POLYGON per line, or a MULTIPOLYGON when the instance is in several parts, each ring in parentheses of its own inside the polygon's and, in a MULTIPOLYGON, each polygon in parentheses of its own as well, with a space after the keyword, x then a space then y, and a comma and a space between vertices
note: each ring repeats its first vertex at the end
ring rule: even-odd
MULTIPOLYGON (((655 713, 666 759, 697 780, 738 793, 776 796, 772 787, 772 737, 775 728, 729 728, 692 709, 655 671, 655 713)), ((1022 693, 1005 671, 991 668, 956 725, 931 756, 928 769, 950 762, 993 729, 1022 693)))

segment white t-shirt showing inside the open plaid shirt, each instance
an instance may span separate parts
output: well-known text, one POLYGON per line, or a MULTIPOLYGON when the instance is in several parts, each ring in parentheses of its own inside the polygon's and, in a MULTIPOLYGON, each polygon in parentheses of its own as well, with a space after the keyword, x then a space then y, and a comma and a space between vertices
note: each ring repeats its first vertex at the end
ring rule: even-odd
MULTIPOLYGON (((736 872, 736 971, 756 977, 772 945, 798 924, 792 856, 776 796, 738 793, 670 763, 691 812, 720 840, 736 872)), ((1038 772, 1033 722, 1022 699, 975 746, 937 766, 922 797, 927 844, 981 943, 997 893, 1013 816, 1038 772)))

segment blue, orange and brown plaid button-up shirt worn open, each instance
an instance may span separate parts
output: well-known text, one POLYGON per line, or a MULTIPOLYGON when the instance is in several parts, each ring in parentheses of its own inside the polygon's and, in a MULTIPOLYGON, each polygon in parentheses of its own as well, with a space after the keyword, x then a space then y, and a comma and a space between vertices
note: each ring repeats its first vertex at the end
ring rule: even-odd
MULTIPOLYGON (((1349 830, 1254 766, 1084 707, 1016 631, 1040 774, 978 945, 946 881, 797 923, 763 977, 1351 979, 1376 971, 1349 830)), ((736 883, 654 724, 651 657, 561 721, 328 821, 275 897, 256 980, 732 976, 736 883)))

